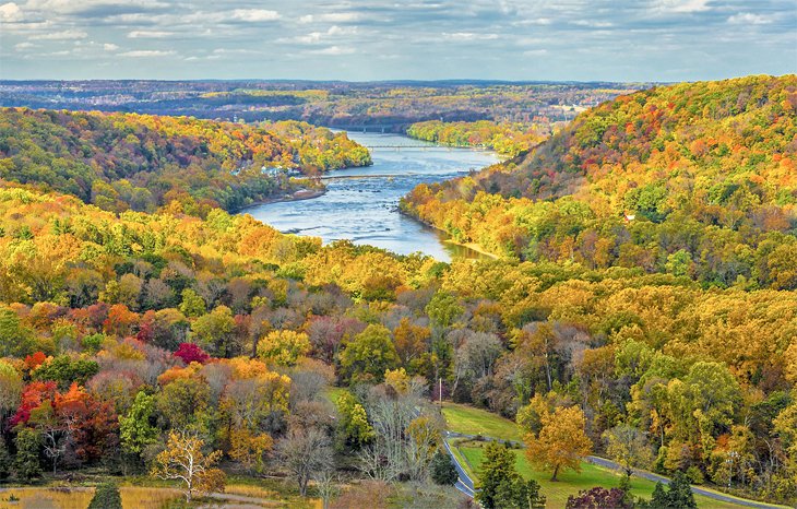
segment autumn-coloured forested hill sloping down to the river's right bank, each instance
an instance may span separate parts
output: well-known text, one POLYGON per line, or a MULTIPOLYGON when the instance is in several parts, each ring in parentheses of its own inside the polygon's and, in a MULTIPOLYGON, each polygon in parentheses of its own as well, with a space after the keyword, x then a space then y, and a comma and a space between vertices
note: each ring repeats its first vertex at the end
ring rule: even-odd
POLYGON ((507 258, 793 289, 796 110, 795 75, 637 92, 403 206, 507 258))

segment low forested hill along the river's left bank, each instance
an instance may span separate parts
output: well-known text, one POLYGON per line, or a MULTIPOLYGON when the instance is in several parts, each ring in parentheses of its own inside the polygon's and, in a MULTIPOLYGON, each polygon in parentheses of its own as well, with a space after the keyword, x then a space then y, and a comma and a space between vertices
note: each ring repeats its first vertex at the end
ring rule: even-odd
POLYGON ((0 178, 102 209, 236 210, 297 187, 285 171, 370 164, 345 133, 304 122, 250 127, 188 117, 0 110, 0 178), (282 170, 282 171, 281 171, 282 170))

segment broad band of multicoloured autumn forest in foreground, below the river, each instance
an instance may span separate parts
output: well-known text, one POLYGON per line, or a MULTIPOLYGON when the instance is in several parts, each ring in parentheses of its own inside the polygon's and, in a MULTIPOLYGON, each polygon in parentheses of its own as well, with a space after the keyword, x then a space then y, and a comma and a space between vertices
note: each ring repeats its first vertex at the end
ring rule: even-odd
MULTIPOLYGON (((443 378, 448 396, 508 416, 535 394, 523 415, 543 396, 581 409, 598 450, 618 423, 650 431, 663 472, 795 494, 793 292, 705 291, 641 269, 449 265, 321 247, 221 210, 116 216, 13 188, 0 190, 0 415, 19 480, 39 475, 39 453, 56 471, 143 471, 182 429, 259 472, 285 464, 269 459, 273 443, 317 429, 321 453, 368 473, 361 451, 409 447, 373 435, 384 398, 413 409, 443 378), (313 395, 331 382, 355 394, 335 421, 313 395), (47 434, 53 457, 36 446, 47 434), (746 470, 724 470, 730 448, 746 470)), ((402 426, 433 441, 440 424, 419 418, 402 426)), ((404 458, 379 475, 426 475, 431 455, 404 458)))

